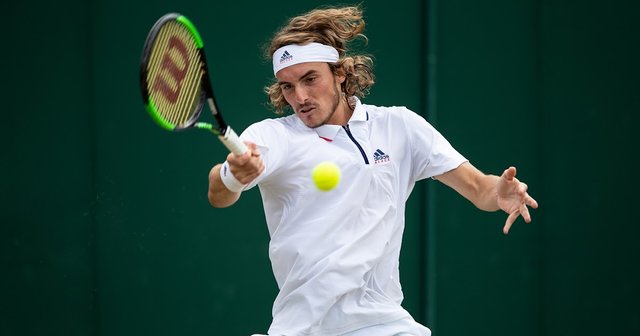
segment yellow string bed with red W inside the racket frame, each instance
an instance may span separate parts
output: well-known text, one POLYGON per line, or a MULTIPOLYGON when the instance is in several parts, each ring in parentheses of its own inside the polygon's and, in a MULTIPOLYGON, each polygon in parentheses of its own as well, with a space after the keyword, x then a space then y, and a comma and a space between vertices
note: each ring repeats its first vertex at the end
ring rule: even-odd
POLYGON ((170 21, 158 32, 148 67, 149 94, 158 113, 174 126, 194 120, 202 103, 204 67, 191 33, 170 21))

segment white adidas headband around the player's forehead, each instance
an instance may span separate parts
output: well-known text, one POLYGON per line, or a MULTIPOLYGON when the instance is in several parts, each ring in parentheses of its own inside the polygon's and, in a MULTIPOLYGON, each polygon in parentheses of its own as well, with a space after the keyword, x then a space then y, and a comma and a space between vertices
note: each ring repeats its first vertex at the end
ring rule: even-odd
POLYGON ((338 51, 331 46, 311 42, 305 45, 290 44, 273 53, 273 74, 298 64, 308 62, 335 63, 340 59, 338 51))

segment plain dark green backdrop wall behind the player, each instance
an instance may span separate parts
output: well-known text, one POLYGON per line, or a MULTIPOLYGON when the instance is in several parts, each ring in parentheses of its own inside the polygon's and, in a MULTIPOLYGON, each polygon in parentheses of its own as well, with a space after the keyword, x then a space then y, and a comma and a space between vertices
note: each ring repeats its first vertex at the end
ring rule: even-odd
MULTIPOLYGON (((261 46, 332 1, 3 1, 1 335, 249 335, 277 287, 257 189, 213 209, 224 147, 142 105, 155 20, 199 27, 219 105, 272 117, 261 46)), ((435 181, 409 200, 404 306, 434 335, 638 335, 637 2, 366 0, 365 102, 424 115, 540 203, 503 236, 435 181)))

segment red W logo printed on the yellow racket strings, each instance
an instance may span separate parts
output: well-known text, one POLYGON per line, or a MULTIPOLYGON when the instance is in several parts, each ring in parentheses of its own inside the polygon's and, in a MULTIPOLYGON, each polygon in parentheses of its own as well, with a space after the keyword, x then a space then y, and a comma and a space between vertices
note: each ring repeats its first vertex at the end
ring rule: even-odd
POLYGON ((160 69, 156 74, 153 88, 160 92, 170 103, 178 101, 182 81, 189 70, 189 52, 176 36, 167 42, 167 50, 162 55, 160 69), (171 81, 169 81, 171 79, 171 81))

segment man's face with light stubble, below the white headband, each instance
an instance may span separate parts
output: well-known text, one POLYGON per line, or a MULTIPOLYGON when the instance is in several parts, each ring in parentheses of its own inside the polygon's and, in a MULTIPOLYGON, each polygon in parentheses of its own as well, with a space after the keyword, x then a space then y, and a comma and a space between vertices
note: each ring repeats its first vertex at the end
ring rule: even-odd
POLYGON ((335 76, 329 64, 300 63, 278 71, 276 77, 287 103, 307 127, 343 125, 348 121, 340 93, 345 77, 335 76))

